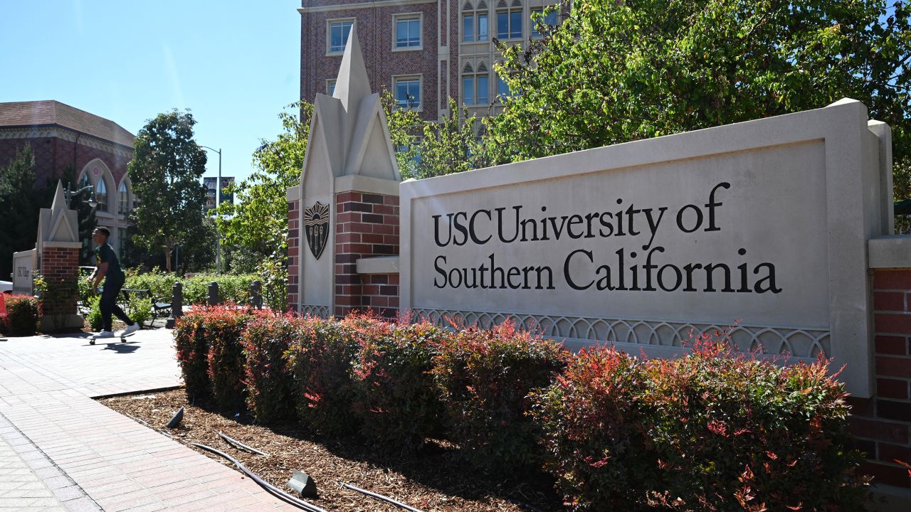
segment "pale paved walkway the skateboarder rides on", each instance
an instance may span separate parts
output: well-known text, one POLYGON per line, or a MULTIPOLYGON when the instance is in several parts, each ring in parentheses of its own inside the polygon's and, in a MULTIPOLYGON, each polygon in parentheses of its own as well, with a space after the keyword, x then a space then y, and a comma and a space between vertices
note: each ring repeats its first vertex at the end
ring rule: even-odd
POLYGON ((93 397, 179 385, 171 332, 0 338, 0 511, 298 510, 93 397))

